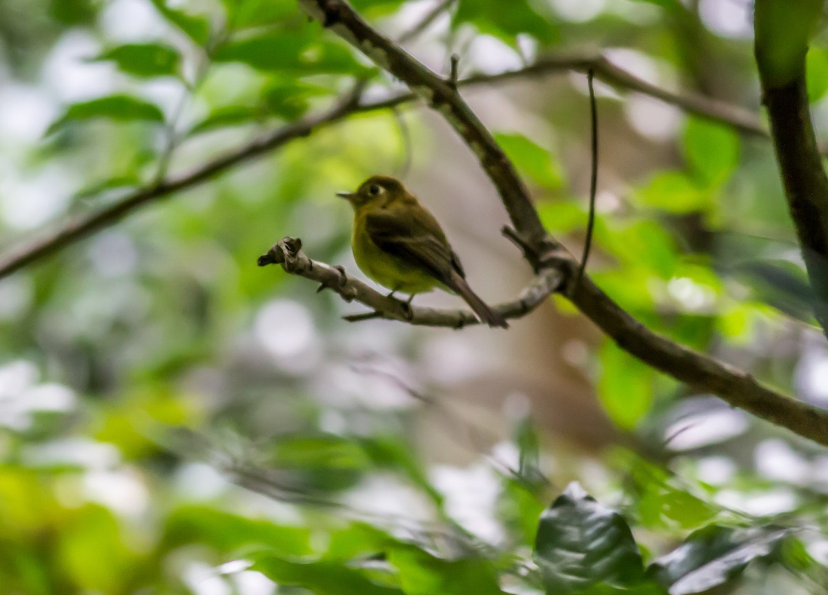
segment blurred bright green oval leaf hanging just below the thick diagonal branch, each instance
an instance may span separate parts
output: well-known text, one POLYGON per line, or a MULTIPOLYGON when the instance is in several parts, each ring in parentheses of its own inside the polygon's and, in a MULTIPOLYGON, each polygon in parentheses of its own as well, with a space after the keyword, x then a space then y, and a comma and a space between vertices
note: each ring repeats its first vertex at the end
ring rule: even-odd
POLYGON ((634 429, 652 407, 654 372, 612 341, 601 348, 598 396, 622 429, 634 429))

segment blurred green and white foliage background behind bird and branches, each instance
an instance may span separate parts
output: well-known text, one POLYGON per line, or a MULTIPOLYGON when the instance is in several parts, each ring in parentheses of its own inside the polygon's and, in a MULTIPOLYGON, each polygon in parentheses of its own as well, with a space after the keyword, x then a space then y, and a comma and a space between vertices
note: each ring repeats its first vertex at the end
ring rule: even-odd
MULTIPOLYGON (((445 3, 404 46, 443 74, 457 53, 461 77, 601 52, 759 112, 751 2, 505 4, 445 3)), ((437 5, 354 2, 397 37, 437 5)), ((818 134, 822 41, 808 58, 818 134)), ((319 113, 357 77, 367 98, 402 90, 288 0, 3 0, 3 253, 319 113)), ((825 405, 828 349, 770 143, 597 92, 595 281, 651 328, 825 405)), ((585 76, 463 94, 580 253, 585 76)), ((491 573, 541 593, 538 516, 573 480, 623 512, 645 563, 700 535, 724 556, 750 529, 768 547, 715 593, 821 593, 823 449, 652 371, 564 300, 505 333, 349 324, 359 305, 256 266, 292 236, 359 274, 334 194, 374 173, 436 214, 490 303, 530 279, 474 154, 411 103, 315 131, 0 280, 0 593, 372 593, 350 560, 388 539, 482 566, 431 564, 460 578, 426 588, 427 564, 397 552, 397 578, 360 567, 382 574, 374 587, 469 593, 491 573)))

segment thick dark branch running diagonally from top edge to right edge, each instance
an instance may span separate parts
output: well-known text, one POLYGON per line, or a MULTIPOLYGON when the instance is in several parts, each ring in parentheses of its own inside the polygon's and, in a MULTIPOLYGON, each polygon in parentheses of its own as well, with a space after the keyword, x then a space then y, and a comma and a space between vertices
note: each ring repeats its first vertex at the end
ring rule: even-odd
POLYGON ((652 367, 720 396, 729 405, 828 446, 828 411, 795 401, 711 357, 653 333, 599 290, 588 276, 575 285, 578 263, 546 235, 515 169, 468 105, 445 80, 374 31, 343 0, 299 0, 306 12, 381 68, 405 82, 439 112, 478 157, 503 199, 517 233, 508 236, 522 248, 539 275, 556 271, 556 286, 620 348, 652 367))

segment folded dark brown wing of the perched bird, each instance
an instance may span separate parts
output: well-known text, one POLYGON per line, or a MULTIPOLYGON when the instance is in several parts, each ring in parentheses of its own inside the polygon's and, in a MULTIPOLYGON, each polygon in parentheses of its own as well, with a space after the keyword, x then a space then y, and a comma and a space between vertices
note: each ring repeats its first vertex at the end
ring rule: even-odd
POLYGON ((366 216, 365 228, 380 250, 421 266, 450 287, 454 285, 452 271, 465 276, 460 259, 451 250, 440 225, 424 209, 406 214, 393 209, 378 210, 366 216))

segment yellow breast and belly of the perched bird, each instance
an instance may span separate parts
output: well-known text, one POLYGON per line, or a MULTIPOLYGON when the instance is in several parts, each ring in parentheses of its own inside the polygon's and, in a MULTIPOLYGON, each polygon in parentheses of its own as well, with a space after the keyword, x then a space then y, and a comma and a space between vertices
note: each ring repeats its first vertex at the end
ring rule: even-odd
POLYGON ((365 214, 354 215, 351 248, 359 268, 373 281, 389 290, 418 294, 433 290, 439 282, 421 267, 413 266, 388 252, 383 252, 365 230, 365 214))

